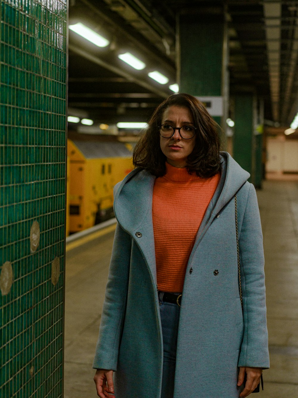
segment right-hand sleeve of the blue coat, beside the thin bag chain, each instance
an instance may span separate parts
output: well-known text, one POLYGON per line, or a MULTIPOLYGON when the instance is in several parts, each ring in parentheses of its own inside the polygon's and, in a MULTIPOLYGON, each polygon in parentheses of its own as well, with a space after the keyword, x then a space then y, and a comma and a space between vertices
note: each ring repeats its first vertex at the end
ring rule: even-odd
POLYGON ((238 366, 269 368, 264 252, 255 188, 250 184, 239 233, 244 336, 238 366))

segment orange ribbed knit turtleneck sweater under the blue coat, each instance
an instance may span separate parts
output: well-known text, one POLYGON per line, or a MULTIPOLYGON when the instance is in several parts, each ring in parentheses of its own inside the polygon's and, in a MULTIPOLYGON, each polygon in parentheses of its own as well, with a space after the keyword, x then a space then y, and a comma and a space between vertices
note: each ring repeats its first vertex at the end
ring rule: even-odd
POLYGON ((220 174, 200 178, 168 163, 166 174, 155 179, 152 217, 159 290, 182 292, 195 237, 219 179, 220 174))

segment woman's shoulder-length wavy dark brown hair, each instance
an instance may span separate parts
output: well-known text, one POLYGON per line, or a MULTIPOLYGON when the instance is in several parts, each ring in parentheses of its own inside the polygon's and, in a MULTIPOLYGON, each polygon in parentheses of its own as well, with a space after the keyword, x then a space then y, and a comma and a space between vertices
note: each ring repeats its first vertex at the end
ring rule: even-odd
POLYGON ((134 148, 134 166, 140 166, 157 177, 166 173, 166 157, 159 144, 159 126, 164 111, 172 105, 188 108, 194 127, 197 128, 195 147, 187 158, 188 172, 203 178, 214 176, 220 170, 221 128, 209 115, 204 104, 190 94, 172 94, 155 109, 144 135, 134 148))

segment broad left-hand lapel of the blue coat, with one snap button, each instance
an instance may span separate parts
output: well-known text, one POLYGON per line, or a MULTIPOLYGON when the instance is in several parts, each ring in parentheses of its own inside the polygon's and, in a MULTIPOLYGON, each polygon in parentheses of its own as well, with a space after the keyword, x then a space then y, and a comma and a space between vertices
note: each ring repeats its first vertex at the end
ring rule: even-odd
POLYGON ((120 226, 139 246, 156 285, 152 196, 155 176, 135 169, 120 183, 114 195, 114 213, 120 226), (132 178, 134 177, 134 178, 132 178))

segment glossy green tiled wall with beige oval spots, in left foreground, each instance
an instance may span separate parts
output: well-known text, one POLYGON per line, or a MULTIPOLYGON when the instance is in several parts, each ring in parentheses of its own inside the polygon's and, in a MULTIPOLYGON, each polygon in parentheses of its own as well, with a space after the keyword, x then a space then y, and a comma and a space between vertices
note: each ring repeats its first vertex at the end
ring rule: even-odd
POLYGON ((67 0, 0 0, 0 397, 62 397, 67 0))

